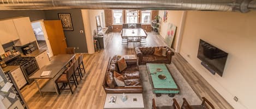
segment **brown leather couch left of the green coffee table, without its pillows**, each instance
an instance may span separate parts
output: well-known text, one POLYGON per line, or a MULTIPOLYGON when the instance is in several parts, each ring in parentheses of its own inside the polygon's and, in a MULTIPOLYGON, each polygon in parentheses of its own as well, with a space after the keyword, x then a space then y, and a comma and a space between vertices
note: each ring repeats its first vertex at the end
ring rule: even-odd
POLYGON ((117 65, 117 56, 109 59, 108 68, 103 82, 106 93, 142 93, 142 84, 140 82, 139 67, 136 60, 127 61, 127 68, 119 72, 117 65), (114 79, 114 70, 124 77, 126 86, 117 86, 114 79))

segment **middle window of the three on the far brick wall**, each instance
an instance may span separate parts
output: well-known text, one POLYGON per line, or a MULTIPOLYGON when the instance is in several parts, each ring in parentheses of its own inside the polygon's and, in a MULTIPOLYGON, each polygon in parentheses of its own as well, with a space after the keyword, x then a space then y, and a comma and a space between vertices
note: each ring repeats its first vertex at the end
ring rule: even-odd
POLYGON ((126 23, 138 23, 137 10, 126 10, 126 23))

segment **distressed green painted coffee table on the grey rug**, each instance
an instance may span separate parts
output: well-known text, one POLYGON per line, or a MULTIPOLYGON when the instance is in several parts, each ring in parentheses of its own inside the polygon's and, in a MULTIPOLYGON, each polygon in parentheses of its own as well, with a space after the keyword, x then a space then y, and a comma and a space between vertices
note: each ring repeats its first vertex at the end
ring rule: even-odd
POLYGON ((162 93, 168 93, 169 97, 174 97, 175 94, 180 93, 180 87, 178 87, 170 70, 164 63, 147 63, 147 71, 153 93, 156 93, 157 97, 161 96, 162 93), (157 72, 157 68, 162 69, 162 72, 157 72), (166 79, 159 79, 158 75, 160 74, 164 74, 166 79))

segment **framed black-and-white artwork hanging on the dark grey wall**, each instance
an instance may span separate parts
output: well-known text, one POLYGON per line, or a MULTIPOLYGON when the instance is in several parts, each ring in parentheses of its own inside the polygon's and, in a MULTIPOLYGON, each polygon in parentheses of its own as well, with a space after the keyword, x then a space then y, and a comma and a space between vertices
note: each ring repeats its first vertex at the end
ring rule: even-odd
POLYGON ((70 13, 58 13, 58 18, 61 20, 64 31, 73 31, 73 25, 70 13))

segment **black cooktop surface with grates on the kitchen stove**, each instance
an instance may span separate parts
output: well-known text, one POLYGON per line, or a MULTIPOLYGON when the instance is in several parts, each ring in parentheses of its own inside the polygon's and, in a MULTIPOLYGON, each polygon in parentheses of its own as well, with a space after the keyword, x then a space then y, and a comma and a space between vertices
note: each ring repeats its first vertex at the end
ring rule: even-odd
POLYGON ((7 65, 8 66, 22 66, 25 63, 31 61, 32 59, 34 59, 34 57, 18 57, 17 59, 8 62, 7 65))

